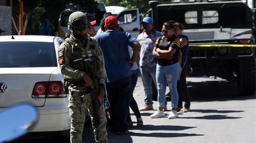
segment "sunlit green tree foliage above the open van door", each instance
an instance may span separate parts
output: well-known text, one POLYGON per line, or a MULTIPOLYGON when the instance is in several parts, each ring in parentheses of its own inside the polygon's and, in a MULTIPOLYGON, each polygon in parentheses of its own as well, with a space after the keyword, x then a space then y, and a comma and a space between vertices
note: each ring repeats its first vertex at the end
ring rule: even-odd
MULTIPOLYGON (((97 0, 99 2, 104 2, 106 6, 123 6, 128 9, 139 8, 139 12, 147 12, 150 9, 148 2, 150 0, 97 0)), ((168 0, 158 0, 159 2, 165 2, 168 0)), ((170 1, 170 0, 169 0, 170 1)))

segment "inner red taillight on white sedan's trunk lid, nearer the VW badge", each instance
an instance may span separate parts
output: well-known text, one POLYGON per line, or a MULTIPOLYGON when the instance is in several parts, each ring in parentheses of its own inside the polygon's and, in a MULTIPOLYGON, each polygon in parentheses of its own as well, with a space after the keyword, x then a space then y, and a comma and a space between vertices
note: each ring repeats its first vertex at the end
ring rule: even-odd
POLYGON ((48 82, 38 82, 35 83, 33 88, 32 97, 33 98, 44 98, 46 96, 48 82))

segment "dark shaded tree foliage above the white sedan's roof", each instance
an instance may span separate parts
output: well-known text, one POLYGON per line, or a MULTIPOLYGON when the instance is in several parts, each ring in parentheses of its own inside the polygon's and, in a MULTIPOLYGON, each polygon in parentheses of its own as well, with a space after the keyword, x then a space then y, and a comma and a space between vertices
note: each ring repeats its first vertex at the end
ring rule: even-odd
MULTIPOLYGON (((97 2, 94 0, 23 0, 25 14, 30 13, 25 34, 39 35, 39 28, 43 25, 43 20, 47 18, 50 20, 51 35, 54 36, 58 27, 60 13, 65 10, 66 5, 88 6, 91 11, 97 8, 97 2)), ((18 25, 18 0, 13 1, 13 17, 16 17, 15 15, 17 16, 16 23, 18 25)))

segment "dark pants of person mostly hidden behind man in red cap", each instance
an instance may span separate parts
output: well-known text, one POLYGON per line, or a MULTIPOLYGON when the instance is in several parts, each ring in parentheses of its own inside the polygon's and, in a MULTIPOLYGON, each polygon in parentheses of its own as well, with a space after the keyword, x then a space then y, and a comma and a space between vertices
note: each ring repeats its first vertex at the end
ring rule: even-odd
MULTIPOLYGON (((136 118, 141 118, 137 102, 133 98, 133 91, 134 91, 134 88, 136 86, 137 80, 138 80, 138 70, 136 69, 136 70, 132 71, 132 76, 131 76, 131 102, 130 102, 130 107, 131 107, 133 113, 135 114, 136 118)), ((130 119, 131 119, 131 116, 130 116, 130 111, 129 111, 129 115, 128 115, 127 120, 130 120, 130 119)))

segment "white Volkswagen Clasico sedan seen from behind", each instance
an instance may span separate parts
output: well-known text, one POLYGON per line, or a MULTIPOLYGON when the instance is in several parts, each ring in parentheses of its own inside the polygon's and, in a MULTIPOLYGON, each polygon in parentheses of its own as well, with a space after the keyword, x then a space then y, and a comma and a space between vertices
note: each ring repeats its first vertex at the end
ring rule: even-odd
POLYGON ((32 132, 70 130, 69 94, 57 62, 62 41, 54 36, 0 37, 0 111, 15 103, 33 103, 39 121, 32 132))

